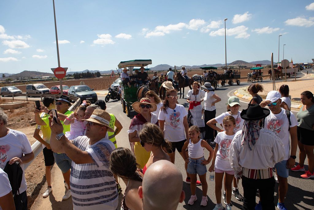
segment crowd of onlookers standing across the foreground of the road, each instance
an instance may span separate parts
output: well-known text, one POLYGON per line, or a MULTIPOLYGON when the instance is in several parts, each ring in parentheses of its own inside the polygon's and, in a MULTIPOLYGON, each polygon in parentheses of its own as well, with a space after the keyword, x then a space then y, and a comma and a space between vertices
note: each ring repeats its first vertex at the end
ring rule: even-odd
MULTIPOLYGON (((124 81, 132 85, 127 77, 124 81)), ((188 111, 178 103, 175 89, 167 90, 163 101, 154 91, 148 91, 146 98, 134 102, 133 110, 138 114, 127 130, 131 149, 118 147, 120 139, 116 136, 122 124, 106 112, 105 101, 98 100, 94 105, 83 101, 73 112, 67 96, 45 97, 43 105, 34 110, 34 138, 42 143, 46 167, 47 189, 42 196, 48 197, 52 192, 50 171, 56 162, 64 178, 62 200, 72 196, 74 209, 116 209, 121 180, 126 185, 121 209, 176 209, 190 193, 187 204, 195 205, 199 184, 203 192, 200 206, 206 206, 207 171, 214 174, 214 210, 232 209, 232 195, 243 202, 244 210, 276 206, 286 209, 289 170, 304 171, 300 176, 303 179, 314 178, 313 94, 300 94, 303 105, 295 116, 290 111, 288 85, 270 91, 263 100, 258 95, 263 86, 252 84, 248 88, 252 100, 247 107, 240 111, 239 98, 232 96, 226 101, 226 112, 216 116, 215 106, 222 102, 211 83, 200 86, 194 82, 192 88, 187 94, 188 111), (57 117, 53 115, 55 110, 57 117), (194 120, 189 125, 191 118, 194 120), (300 162, 295 166, 297 147, 300 162), (174 164, 176 150, 184 161, 185 182, 190 184, 191 192, 182 190, 183 176, 174 164), (238 190, 240 179, 243 195, 238 190), (277 205, 275 179, 279 183, 277 205), (260 201, 256 205, 257 190, 260 201)), ((8 117, 0 109, 0 206, 27 209, 24 164, 34 154, 25 134, 7 125, 8 117), (16 189, 12 185, 12 168, 19 167, 22 182, 16 189)))

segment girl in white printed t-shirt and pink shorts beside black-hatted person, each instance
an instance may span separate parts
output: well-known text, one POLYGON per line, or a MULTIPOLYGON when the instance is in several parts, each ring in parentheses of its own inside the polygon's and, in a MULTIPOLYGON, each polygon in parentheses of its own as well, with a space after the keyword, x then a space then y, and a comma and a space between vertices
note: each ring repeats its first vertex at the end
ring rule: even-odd
POLYGON ((224 173, 226 174, 225 178, 225 189, 226 189, 226 210, 230 210, 231 206, 231 184, 234 177, 234 171, 231 168, 229 162, 229 148, 233 137, 235 136, 234 128, 236 127, 236 120, 233 116, 225 116, 223 119, 224 130, 217 134, 215 142, 216 147, 214 151, 212 165, 209 167, 208 171, 215 171, 215 194, 217 204, 213 210, 224 209, 221 204, 221 188, 222 180, 224 178, 224 173))

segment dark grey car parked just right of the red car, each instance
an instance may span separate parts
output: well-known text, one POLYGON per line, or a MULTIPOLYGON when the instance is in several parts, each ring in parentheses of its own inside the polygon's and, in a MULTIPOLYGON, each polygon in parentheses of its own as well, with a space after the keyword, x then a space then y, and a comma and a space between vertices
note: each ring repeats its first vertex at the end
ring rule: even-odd
POLYGON ((70 87, 68 94, 80 98, 81 101, 90 100, 95 103, 98 98, 93 90, 94 89, 90 89, 87 85, 73 85, 70 87))

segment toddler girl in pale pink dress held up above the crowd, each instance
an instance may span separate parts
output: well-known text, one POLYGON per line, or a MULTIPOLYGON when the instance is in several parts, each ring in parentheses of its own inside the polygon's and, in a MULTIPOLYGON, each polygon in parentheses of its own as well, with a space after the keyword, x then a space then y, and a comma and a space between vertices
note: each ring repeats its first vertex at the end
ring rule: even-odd
POLYGON ((83 136, 83 133, 86 129, 86 124, 83 119, 85 116, 85 110, 90 105, 90 103, 85 100, 78 107, 77 111, 71 114, 69 117, 65 118, 63 123, 65 125, 71 124, 70 131, 65 132, 65 136, 71 140, 75 139, 78 136, 83 136))

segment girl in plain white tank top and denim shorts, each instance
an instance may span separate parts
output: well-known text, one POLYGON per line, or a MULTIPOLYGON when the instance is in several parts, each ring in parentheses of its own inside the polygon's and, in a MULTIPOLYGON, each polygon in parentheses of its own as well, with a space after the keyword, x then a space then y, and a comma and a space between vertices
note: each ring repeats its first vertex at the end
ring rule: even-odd
POLYGON ((182 147, 182 156, 184 161, 188 163, 187 165, 187 173, 190 174, 191 177, 191 198, 188 201, 189 205, 193 205, 197 200, 195 195, 196 191, 196 181, 198 174, 199 179, 202 183, 203 197, 201 201, 201 206, 207 205, 207 182, 206 182, 206 165, 214 156, 214 150, 209 146, 209 144, 200 139, 200 130, 197 126, 193 125, 188 130, 190 140, 187 140, 182 147), (206 160, 204 158, 204 148, 209 151, 209 157, 206 160), (188 149, 189 158, 187 158, 185 151, 188 149))

